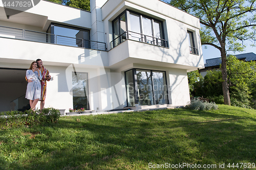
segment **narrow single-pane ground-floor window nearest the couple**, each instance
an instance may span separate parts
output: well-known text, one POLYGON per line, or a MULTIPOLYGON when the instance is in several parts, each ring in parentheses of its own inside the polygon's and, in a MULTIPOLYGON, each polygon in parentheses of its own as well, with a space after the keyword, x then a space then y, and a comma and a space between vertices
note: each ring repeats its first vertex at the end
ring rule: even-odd
POLYGON ((73 109, 89 110, 88 74, 86 72, 72 72, 73 109))

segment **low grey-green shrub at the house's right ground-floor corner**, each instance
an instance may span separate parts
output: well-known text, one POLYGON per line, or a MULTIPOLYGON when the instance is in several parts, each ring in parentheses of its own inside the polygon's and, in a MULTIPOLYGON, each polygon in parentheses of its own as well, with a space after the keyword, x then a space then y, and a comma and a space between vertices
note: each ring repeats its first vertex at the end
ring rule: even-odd
POLYGON ((186 106, 188 109, 192 110, 216 110, 218 105, 214 102, 202 102, 199 99, 193 99, 190 101, 189 105, 186 106))

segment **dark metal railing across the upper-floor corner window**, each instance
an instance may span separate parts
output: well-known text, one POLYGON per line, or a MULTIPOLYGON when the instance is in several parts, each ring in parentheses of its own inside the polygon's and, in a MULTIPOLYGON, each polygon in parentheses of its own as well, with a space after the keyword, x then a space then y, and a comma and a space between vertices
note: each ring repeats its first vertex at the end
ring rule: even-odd
POLYGON ((118 44, 122 43, 126 39, 132 39, 135 41, 146 42, 146 43, 150 43, 158 46, 168 47, 167 40, 132 32, 132 31, 127 31, 121 34, 120 36, 116 37, 113 41, 110 42, 111 49, 117 46, 118 44))

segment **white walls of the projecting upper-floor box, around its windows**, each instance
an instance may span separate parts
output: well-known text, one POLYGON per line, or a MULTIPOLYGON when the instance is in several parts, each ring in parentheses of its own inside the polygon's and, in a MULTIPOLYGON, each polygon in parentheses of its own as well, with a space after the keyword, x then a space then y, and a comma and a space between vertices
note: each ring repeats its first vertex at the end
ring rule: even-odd
MULTIPOLYGON (((122 42, 115 47, 118 49, 112 49, 114 52, 111 52, 112 50, 109 52, 110 66, 120 62, 121 59, 127 58, 126 56, 129 56, 164 63, 192 66, 194 70, 204 67, 199 34, 199 19, 161 1, 151 1, 151 3, 130 0, 106 2, 101 11, 104 20, 104 31, 107 34, 107 42, 113 40, 112 20, 123 12, 124 9, 130 9, 163 21, 165 39, 168 41, 169 48, 128 40, 129 42, 122 42), (189 52, 187 30, 194 32, 199 55, 190 54, 189 52), (122 52, 121 55, 119 52, 122 52)), ((110 49, 110 43, 107 43, 107 46, 108 49, 110 49)), ((193 70, 193 68, 189 69, 193 70)))

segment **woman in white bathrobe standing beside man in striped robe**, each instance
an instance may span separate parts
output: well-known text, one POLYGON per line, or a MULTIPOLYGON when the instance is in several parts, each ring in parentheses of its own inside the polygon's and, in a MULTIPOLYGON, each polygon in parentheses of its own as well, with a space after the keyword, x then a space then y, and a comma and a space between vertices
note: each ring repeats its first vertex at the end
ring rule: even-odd
POLYGON ((41 71, 37 68, 36 61, 33 61, 26 72, 26 77, 28 80, 32 80, 32 82, 28 83, 27 91, 26 91, 26 99, 29 100, 30 108, 32 110, 35 109, 37 102, 41 98, 41 83, 42 80, 41 71))

